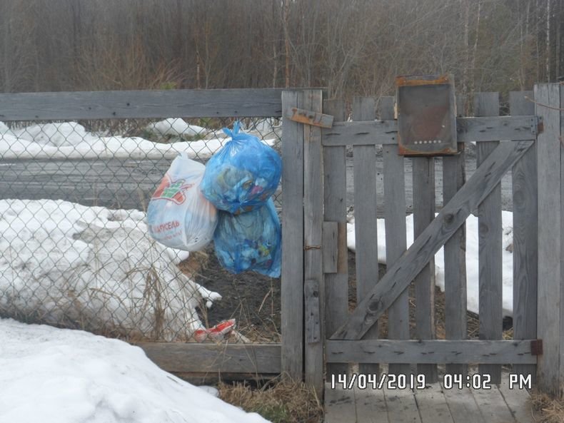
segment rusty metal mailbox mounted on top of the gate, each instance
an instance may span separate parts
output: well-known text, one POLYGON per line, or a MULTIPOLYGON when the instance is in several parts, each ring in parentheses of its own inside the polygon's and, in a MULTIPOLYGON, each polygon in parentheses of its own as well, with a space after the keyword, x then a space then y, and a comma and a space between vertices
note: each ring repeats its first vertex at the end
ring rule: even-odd
POLYGON ((456 154, 453 76, 398 76, 396 87, 399 154, 456 154))

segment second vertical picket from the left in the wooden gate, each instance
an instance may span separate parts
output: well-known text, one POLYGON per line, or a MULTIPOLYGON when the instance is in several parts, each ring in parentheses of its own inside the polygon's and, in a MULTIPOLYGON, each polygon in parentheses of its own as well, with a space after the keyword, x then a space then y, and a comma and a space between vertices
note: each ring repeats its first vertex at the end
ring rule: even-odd
MULTIPOLYGON (((373 97, 353 98, 353 118, 358 121, 376 119, 373 97)), ((378 282, 378 223, 376 215, 376 146, 353 147, 354 216, 356 240, 356 300, 361 302, 378 282)), ((376 323, 364 337, 377 339, 376 323)), ((378 365, 359 365, 361 374, 378 373, 378 365)))

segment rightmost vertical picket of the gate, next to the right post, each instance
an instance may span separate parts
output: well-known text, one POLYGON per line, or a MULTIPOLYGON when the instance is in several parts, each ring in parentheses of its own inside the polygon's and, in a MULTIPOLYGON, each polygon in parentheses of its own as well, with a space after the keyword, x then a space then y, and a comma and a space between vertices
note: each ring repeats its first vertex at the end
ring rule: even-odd
MULTIPOLYGON (((532 114, 532 91, 509 93, 513 115, 532 114)), ((530 148, 513 165, 513 338, 537 337, 537 158, 530 148)), ((518 374, 536 376, 535 366, 515 365, 518 374)))

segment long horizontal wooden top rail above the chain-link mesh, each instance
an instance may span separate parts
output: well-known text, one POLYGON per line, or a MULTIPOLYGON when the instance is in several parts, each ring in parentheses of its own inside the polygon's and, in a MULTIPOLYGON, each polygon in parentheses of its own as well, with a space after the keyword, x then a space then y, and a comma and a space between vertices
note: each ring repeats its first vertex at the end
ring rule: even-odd
POLYGON ((282 116, 282 88, 3 93, 2 121, 282 116))

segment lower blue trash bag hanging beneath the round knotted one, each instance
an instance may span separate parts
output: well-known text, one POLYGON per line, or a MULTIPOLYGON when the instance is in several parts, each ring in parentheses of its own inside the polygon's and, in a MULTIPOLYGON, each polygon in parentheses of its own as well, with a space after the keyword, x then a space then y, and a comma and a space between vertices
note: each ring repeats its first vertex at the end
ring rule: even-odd
POLYGON ((281 228, 271 199, 261 208, 239 215, 219 210, 213 243, 219 263, 231 273, 254 270, 280 276, 281 228))

